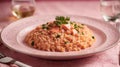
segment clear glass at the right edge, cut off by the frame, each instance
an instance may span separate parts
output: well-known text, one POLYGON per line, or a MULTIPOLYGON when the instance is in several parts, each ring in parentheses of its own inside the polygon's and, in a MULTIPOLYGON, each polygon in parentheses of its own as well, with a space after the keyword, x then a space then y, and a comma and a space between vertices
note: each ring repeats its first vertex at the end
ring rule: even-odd
POLYGON ((120 0, 100 0, 100 9, 103 19, 120 30, 120 0))

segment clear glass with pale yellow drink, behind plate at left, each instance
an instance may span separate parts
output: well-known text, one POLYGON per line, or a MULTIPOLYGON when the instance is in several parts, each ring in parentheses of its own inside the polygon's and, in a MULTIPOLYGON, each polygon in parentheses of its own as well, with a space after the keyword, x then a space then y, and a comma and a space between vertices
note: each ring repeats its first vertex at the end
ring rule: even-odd
POLYGON ((32 16, 35 12, 35 0, 12 0, 12 14, 17 18, 32 16))

